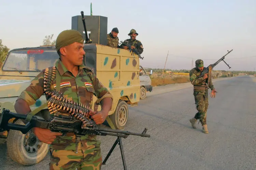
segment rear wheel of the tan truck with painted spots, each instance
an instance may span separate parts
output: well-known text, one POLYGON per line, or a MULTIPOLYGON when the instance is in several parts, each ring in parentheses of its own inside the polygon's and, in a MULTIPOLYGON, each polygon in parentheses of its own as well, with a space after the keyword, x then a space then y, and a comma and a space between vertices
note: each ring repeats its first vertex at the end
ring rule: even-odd
POLYGON ((123 129, 128 120, 128 106, 125 101, 119 101, 115 113, 109 118, 113 122, 115 129, 123 129))

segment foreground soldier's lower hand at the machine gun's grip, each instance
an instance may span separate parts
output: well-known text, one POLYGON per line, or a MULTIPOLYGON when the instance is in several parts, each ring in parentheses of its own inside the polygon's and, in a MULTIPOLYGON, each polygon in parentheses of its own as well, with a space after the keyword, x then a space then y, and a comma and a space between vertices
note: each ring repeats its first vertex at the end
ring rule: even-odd
POLYGON ((51 144, 55 139, 56 136, 61 136, 62 134, 59 132, 52 132, 49 129, 43 129, 43 128, 33 128, 33 133, 35 136, 38 137, 38 139, 44 143, 51 144))

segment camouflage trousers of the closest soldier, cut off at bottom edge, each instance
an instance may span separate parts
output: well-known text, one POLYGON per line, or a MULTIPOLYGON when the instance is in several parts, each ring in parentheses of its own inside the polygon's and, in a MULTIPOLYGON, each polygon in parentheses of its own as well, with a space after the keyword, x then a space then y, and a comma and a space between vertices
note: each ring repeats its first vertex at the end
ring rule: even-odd
POLYGON ((100 170, 102 157, 96 136, 83 136, 75 153, 76 136, 57 137, 50 146, 50 170, 100 170))

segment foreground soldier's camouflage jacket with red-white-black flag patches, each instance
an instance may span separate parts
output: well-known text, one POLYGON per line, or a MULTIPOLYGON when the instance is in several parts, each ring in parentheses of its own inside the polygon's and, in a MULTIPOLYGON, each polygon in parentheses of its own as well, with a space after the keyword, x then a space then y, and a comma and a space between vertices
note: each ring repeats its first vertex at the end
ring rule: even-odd
MULTIPOLYGON (((63 63, 58 60, 55 64, 59 74, 60 74, 60 91, 64 94, 68 99, 73 100, 74 102, 82 103, 90 108, 93 105, 93 96, 96 95, 99 99, 99 102, 106 98, 111 97, 113 99, 112 94, 108 91, 106 87, 104 87, 98 78, 96 78, 94 72, 84 65, 79 66, 79 71, 76 77, 67 70, 67 68, 63 65, 63 63), (85 72, 86 71, 86 72, 85 72), (91 79, 87 76, 87 74, 91 75, 93 78, 91 79), (94 91, 95 90, 95 91, 94 91)), ((20 94, 18 99, 24 99, 29 105, 33 105, 37 99, 39 99, 44 94, 44 72, 45 69, 40 72, 32 81, 31 84, 20 94)), ((56 88, 56 79, 52 82, 52 89, 56 88)), ((18 100, 17 99, 17 100, 18 100)), ((46 99, 49 99, 49 96, 46 95, 46 99)), ((57 114, 70 116, 67 112, 59 112, 57 114)), ((58 136, 54 142, 52 143, 53 149, 67 149, 67 147, 71 150, 74 150, 74 134, 68 133, 66 136, 58 136)), ((95 135, 86 135, 81 137, 81 142, 85 143, 86 141, 95 141, 95 135)))

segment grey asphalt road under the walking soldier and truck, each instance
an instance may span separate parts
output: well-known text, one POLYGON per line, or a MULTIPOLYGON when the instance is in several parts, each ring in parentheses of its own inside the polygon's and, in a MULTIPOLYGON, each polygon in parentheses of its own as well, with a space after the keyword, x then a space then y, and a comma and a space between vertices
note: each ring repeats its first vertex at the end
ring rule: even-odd
MULTIPOLYGON (((125 130, 140 133, 147 127, 151 135, 123 139, 129 170, 256 169, 256 78, 233 77, 213 82, 218 93, 215 99, 209 98, 209 134, 201 132, 201 124, 192 129, 188 121, 196 113, 189 83, 156 87, 139 106, 129 107, 125 130)), ((100 139, 105 158, 115 137, 100 139)), ((35 166, 23 167, 6 156, 5 145, 0 146, 1 169, 47 170, 48 161, 46 157, 35 166)), ((123 169, 118 146, 102 167, 112 169, 123 169)))

